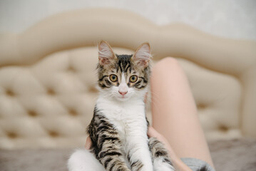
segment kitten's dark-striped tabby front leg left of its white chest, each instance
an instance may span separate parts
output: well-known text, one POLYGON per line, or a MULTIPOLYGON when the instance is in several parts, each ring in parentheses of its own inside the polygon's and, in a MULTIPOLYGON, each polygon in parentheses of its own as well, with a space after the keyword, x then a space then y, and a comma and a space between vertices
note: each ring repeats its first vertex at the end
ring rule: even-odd
POLYGON ((108 171, 130 171, 123 155, 118 130, 103 115, 94 115, 89 127, 92 150, 103 167, 108 171))

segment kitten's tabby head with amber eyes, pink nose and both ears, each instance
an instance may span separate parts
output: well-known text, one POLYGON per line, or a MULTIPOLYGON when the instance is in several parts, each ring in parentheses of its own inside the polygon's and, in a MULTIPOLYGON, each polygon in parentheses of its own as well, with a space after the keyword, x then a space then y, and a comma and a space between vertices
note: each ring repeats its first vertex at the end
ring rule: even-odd
POLYGON ((150 46, 143 43, 133 55, 116 55, 101 41, 98 46, 98 86, 107 98, 143 98, 150 76, 150 46))

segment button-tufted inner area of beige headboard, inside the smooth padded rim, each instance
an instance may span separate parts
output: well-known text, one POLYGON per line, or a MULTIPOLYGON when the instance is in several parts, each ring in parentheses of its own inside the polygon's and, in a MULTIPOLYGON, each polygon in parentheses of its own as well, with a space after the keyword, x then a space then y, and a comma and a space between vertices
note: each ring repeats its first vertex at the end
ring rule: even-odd
MULTIPOLYGON (((11 97, 9 100, 8 97, 0 98, 0 129, 6 130, 8 143, 28 147, 32 138, 41 147, 83 145, 84 142, 72 140, 86 138, 86 127, 91 121, 98 93, 97 61, 96 48, 78 48, 53 53, 31 66, 6 67, 9 69, 3 70, 5 76, 10 71, 19 71, 16 73, 23 77, 14 77, 8 86, 4 86, 5 94, 11 97), (18 118, 16 125, 13 120, 18 118)), ((207 137, 239 136, 239 105, 236 105, 240 101, 239 82, 232 76, 209 71, 195 63, 179 62, 188 74, 207 137), (219 81, 225 84, 219 84, 219 81)), ((147 115, 150 119, 150 111, 147 115)), ((4 138, 1 141, 2 147, 9 146, 4 138)))

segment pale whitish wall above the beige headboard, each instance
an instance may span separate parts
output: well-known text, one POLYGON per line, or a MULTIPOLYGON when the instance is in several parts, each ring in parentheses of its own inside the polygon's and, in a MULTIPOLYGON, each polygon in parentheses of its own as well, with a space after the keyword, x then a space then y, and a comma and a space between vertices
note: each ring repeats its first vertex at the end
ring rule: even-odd
POLYGON ((256 40, 256 0, 0 0, 0 33, 24 31, 62 11, 98 6, 128 9, 155 24, 183 22, 218 36, 256 40))

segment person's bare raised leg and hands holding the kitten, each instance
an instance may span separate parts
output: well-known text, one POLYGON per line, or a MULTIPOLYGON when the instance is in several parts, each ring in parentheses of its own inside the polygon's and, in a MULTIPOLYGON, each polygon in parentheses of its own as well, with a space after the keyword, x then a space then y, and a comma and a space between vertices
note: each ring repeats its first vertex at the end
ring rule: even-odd
MULTIPOLYGON (((156 63, 150 82, 153 127, 148 136, 163 142, 176 170, 191 170, 180 157, 197 158, 214 167, 188 79, 178 61, 164 58, 156 63)), ((87 138, 86 149, 90 147, 87 138)))

